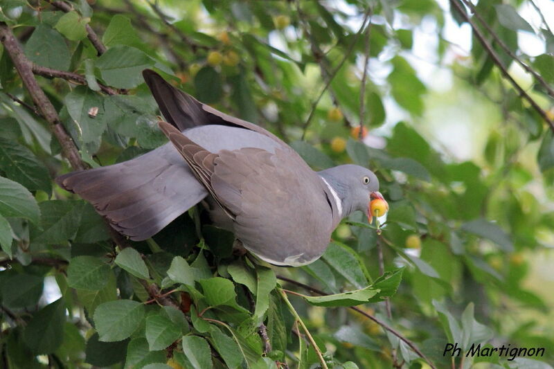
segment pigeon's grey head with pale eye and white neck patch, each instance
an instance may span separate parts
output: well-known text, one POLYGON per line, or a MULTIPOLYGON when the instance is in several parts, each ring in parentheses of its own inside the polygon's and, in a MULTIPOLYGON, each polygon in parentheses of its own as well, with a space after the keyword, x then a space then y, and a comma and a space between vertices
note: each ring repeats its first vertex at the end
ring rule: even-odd
POLYGON ((338 198, 335 201, 341 210, 341 218, 348 217, 355 210, 368 215, 370 201, 383 199, 379 192, 379 179, 367 168, 345 164, 321 170, 318 174, 330 186, 333 196, 338 198))

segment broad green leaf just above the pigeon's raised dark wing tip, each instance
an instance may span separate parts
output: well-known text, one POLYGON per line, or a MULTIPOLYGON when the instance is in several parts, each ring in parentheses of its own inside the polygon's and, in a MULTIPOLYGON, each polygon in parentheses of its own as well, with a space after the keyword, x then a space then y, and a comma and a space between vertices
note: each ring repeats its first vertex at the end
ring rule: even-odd
POLYGON ((143 82, 141 72, 155 62, 138 48, 114 46, 96 62, 100 75, 107 84, 118 89, 132 89, 143 82))

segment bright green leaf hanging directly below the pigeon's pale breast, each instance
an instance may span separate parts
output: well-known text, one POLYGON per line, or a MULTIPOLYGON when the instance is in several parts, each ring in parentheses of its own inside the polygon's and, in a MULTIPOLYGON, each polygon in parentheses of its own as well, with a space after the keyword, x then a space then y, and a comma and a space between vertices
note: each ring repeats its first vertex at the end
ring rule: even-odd
POLYGON ((343 246, 335 243, 329 244, 322 258, 355 287, 363 288, 368 285, 368 280, 363 269, 361 269, 359 260, 343 246))

